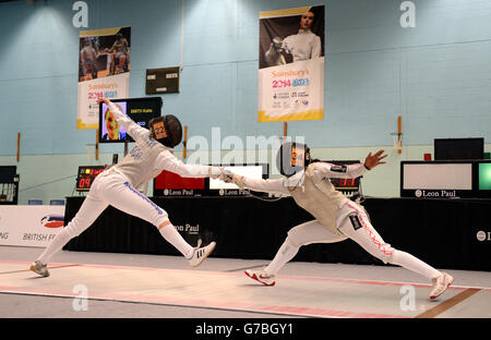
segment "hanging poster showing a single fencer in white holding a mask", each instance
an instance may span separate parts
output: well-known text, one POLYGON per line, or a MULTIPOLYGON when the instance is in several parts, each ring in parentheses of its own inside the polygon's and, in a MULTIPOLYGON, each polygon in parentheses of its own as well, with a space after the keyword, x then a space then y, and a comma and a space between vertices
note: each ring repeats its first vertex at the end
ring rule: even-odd
POLYGON ((259 122, 324 119, 324 11, 260 12, 259 122))

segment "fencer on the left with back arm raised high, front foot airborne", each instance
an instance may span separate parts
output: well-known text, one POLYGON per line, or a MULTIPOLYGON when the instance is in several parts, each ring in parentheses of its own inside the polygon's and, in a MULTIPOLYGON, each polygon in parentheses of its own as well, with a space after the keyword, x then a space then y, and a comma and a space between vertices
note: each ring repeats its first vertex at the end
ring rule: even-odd
POLYGON ((50 258, 71 239, 91 227, 109 205, 154 224, 161 236, 172 244, 191 266, 200 265, 212 253, 215 242, 204 247, 200 247, 201 244, 192 247, 172 226, 166 210, 139 192, 137 187, 157 177, 163 170, 184 178, 218 178, 221 169, 184 165, 173 156, 173 147, 182 138, 181 124, 175 116, 167 114, 151 120, 147 130, 122 113, 109 99, 98 101, 107 104, 117 121, 135 141, 135 145, 121 162, 97 175, 75 217, 57 234, 29 269, 40 276, 49 276, 47 264, 50 258))

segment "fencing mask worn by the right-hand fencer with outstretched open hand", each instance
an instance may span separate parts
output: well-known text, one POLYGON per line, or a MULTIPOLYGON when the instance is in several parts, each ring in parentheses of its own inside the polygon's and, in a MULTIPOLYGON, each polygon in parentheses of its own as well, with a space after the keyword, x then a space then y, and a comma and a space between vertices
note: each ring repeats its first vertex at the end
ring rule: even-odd
POLYGON ((279 173, 291 177, 307 168, 310 163, 310 149, 306 144, 286 142, 276 155, 276 167, 279 173))

